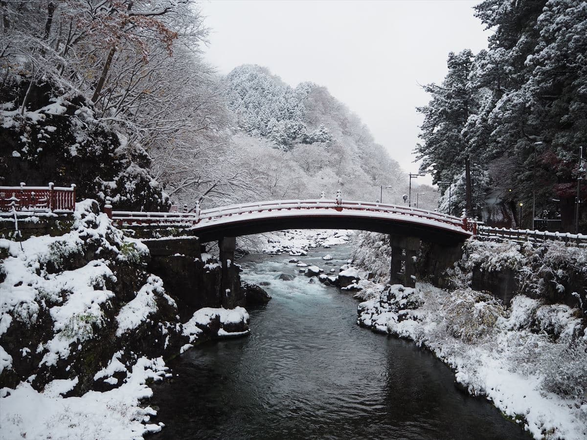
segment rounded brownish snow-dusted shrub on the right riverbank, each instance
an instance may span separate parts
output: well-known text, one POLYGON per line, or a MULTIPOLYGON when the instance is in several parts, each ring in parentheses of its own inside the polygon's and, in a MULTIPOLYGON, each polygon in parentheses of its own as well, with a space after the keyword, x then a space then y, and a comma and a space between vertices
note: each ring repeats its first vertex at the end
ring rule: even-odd
POLYGON ((491 334, 497 320, 505 314, 500 300, 471 289, 451 292, 445 307, 448 333, 466 342, 491 334))

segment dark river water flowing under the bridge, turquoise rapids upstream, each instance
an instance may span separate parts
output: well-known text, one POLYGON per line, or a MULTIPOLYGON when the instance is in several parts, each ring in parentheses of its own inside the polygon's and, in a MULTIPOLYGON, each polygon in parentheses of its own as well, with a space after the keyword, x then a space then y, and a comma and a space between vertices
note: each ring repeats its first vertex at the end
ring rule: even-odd
MULTIPOLYGON (((349 254, 343 245, 300 259, 338 272, 349 254)), ((166 427, 150 438, 529 438, 457 390, 429 352, 357 326, 357 300, 308 284, 290 258, 239 262, 243 279, 271 283, 273 299, 249 310, 250 336, 204 344, 170 365, 174 378, 151 400, 166 427), (296 279, 275 280, 281 272, 296 279)))

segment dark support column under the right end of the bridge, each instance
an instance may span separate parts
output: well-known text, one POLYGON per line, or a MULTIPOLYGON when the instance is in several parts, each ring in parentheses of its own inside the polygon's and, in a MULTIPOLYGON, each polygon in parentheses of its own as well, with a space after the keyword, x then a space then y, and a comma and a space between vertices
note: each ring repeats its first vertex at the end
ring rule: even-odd
POLYGON ((392 247, 390 283, 416 287, 416 253, 420 249, 420 238, 404 235, 389 235, 392 247))

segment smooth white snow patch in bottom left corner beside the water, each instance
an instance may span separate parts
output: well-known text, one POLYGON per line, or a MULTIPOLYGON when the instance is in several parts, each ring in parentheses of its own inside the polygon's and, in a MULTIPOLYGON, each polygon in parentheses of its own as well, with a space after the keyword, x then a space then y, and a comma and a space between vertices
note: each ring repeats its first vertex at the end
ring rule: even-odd
POLYGON ((163 424, 150 423, 157 412, 140 401, 153 394, 146 381, 161 380, 166 370, 161 358, 141 357, 119 388, 81 397, 61 397, 75 380, 54 380, 42 392, 28 382, 15 390, 2 388, 0 438, 137 439, 160 431, 163 424))

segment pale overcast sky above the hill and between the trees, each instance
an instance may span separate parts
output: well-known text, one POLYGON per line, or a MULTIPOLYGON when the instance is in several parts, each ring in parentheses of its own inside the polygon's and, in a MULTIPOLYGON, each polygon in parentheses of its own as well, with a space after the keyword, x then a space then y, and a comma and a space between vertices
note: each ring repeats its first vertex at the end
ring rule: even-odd
POLYGON ((429 100, 419 84, 441 82, 451 50, 487 47, 489 31, 473 16, 478 2, 207 0, 205 57, 223 74, 258 64, 291 86, 328 87, 406 172, 416 172, 415 107, 429 100))

